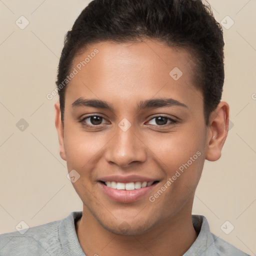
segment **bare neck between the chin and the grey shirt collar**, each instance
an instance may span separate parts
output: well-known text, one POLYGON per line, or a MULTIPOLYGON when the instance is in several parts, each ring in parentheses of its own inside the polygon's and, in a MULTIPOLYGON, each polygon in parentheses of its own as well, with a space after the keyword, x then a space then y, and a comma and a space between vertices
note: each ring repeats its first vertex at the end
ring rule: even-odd
POLYGON ((140 235, 117 235, 106 230, 84 206, 76 223, 76 233, 86 256, 104 255, 183 255, 197 234, 193 228, 190 210, 182 210, 171 219, 140 235))

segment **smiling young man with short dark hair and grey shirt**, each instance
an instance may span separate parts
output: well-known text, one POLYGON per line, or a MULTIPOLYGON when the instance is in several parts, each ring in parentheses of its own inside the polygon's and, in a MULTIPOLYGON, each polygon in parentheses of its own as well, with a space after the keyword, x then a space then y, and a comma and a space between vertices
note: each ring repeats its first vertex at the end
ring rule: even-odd
POLYGON ((220 157, 223 35, 200 0, 93 0, 57 76, 60 156, 82 212, 0 236, 0 255, 247 255, 192 215, 220 157))

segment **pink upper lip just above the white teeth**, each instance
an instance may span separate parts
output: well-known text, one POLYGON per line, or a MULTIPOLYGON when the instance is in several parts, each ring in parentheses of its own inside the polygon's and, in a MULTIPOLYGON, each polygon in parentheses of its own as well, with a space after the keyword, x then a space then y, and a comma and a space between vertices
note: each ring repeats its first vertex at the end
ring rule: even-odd
POLYGON ((99 178, 99 181, 116 181, 116 182, 121 182, 121 183, 129 183, 129 182, 150 182, 150 181, 158 181, 159 179, 157 178, 150 178, 146 176, 139 176, 139 175, 110 175, 110 176, 104 176, 99 178))

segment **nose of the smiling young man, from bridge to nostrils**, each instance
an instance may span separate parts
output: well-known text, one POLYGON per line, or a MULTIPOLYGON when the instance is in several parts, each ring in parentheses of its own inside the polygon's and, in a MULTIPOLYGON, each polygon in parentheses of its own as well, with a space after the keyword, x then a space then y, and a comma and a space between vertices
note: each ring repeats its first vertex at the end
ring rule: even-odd
POLYGON ((128 167, 131 162, 144 162, 146 145, 141 135, 136 133, 132 126, 126 131, 117 126, 105 151, 106 161, 120 167, 128 167))

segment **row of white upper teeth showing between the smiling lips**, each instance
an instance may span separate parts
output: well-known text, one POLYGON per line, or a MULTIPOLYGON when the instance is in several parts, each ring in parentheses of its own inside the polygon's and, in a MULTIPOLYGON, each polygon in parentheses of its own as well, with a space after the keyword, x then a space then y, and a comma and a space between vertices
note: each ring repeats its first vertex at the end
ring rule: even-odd
POLYGON ((134 190, 134 189, 139 189, 139 188, 151 186, 151 185, 153 185, 155 183, 158 183, 159 180, 150 181, 150 182, 136 181, 136 182, 128 182, 128 183, 115 182, 115 181, 102 181, 102 180, 100 180, 100 182, 102 184, 106 185, 107 187, 111 187, 111 188, 118 189, 118 190, 134 190))

